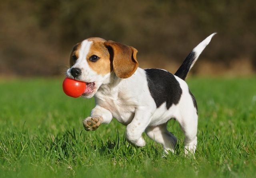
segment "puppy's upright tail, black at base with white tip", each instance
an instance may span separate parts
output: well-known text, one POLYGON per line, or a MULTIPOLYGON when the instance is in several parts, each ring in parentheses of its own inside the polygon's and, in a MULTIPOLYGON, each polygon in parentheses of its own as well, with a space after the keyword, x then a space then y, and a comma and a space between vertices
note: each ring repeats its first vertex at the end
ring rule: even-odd
POLYGON ((186 59, 183 61, 182 65, 180 68, 176 71, 174 75, 180 77, 182 80, 185 80, 185 78, 188 75, 188 72, 190 69, 193 67, 193 65, 196 63, 199 55, 202 53, 204 48, 210 43, 212 37, 216 33, 212 33, 212 35, 208 36, 204 41, 199 43, 186 57, 186 59))

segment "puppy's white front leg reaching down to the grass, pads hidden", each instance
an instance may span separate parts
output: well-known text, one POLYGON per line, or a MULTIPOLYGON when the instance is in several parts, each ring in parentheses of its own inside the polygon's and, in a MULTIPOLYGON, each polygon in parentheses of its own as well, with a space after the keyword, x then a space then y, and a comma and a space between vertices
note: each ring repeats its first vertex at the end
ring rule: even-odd
POLYGON ((134 119, 126 127, 126 139, 133 146, 144 147, 146 142, 142 137, 142 133, 148 127, 152 113, 139 110, 136 111, 134 119))

